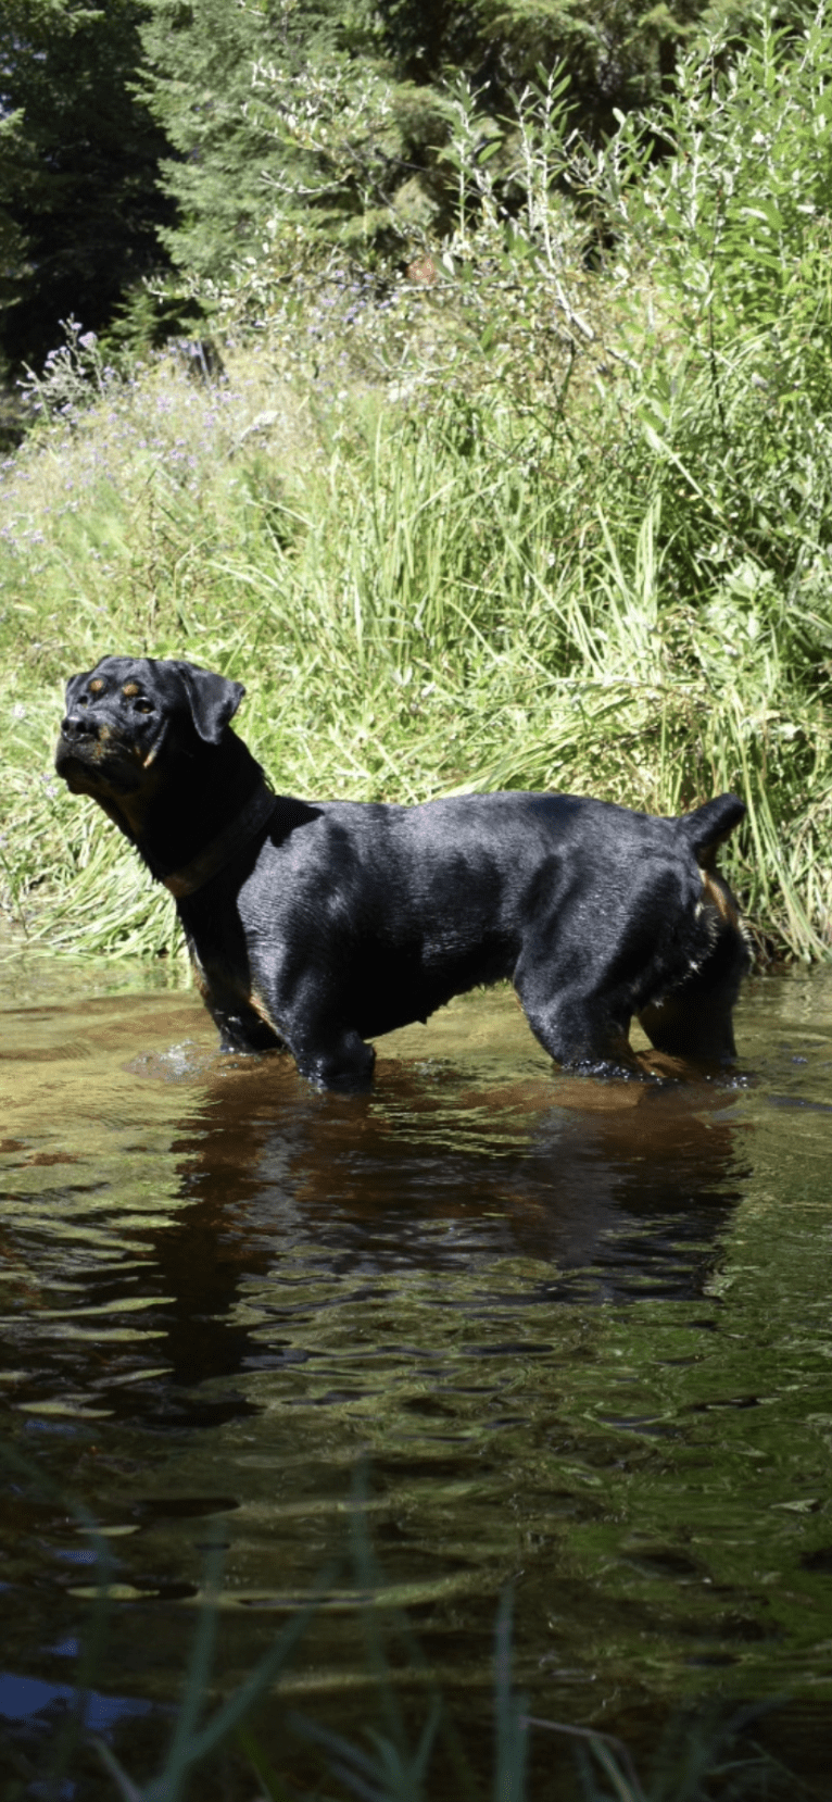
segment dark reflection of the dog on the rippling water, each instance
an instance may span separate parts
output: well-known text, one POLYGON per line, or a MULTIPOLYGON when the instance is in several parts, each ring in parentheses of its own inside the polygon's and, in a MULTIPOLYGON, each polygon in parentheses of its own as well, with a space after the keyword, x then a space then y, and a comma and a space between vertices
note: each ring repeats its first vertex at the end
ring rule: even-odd
POLYGON ((441 1296, 490 1267, 497 1306, 517 1260, 524 1308, 702 1294, 744 1173, 731 1088, 477 1081, 448 1063, 382 1078, 322 1096, 265 1058, 209 1079, 171 1146, 187 1206, 151 1245, 176 1388, 249 1362, 236 1303, 281 1269, 304 1310, 310 1276, 337 1306, 339 1285, 355 1303, 421 1272, 441 1296))

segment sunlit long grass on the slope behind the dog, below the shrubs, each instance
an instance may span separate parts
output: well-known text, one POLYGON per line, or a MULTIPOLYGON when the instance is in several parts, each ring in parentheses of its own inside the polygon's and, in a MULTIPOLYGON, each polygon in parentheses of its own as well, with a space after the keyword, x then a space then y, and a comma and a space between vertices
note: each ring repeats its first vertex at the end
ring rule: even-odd
POLYGON ((654 813, 735 789, 756 928, 821 950, 828 726, 783 663, 776 589, 749 566, 686 602, 659 501, 610 517, 583 454, 538 452, 492 404, 326 411, 267 350, 207 386, 166 360, 29 441, 0 501, 0 870, 29 935, 176 942, 167 897, 50 768, 63 679, 133 652, 245 681, 238 726, 281 789, 560 787, 654 813))

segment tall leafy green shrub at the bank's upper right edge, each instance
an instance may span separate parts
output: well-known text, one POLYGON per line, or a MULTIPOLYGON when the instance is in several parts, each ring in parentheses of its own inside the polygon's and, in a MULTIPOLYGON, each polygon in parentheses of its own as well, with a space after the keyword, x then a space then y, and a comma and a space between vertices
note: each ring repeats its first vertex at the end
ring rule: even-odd
POLYGON ((812 661, 803 609, 830 541, 830 79, 825 13, 798 41, 764 22, 737 59, 724 40, 684 59, 661 115, 627 121, 603 159, 645 440, 686 487, 679 580, 767 566, 812 661), (657 132, 672 155, 648 168, 657 132))

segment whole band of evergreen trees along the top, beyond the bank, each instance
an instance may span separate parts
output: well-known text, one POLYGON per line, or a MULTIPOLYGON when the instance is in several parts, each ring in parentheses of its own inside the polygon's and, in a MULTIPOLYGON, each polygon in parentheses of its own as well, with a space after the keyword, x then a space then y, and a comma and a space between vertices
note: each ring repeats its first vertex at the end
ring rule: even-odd
MULTIPOLYGON (((402 249, 402 223, 407 241, 447 231, 443 90, 457 79, 488 139, 556 65, 598 144, 616 110, 672 92, 697 32, 722 20, 737 38, 753 16, 755 0, 7 0, 0 368, 40 364, 70 315, 133 348, 189 328, 193 281, 259 254, 270 189, 306 186, 292 256, 312 223, 319 249, 346 231, 369 261, 402 249), (171 258, 178 278, 153 305, 142 278, 171 258)), ((810 16, 810 0, 780 0, 780 22, 810 16)))

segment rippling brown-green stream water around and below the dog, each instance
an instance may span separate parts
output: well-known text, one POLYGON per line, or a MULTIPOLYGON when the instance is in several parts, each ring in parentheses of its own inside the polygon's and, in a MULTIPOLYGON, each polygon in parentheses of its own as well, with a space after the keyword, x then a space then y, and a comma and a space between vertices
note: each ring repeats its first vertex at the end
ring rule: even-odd
POLYGON ((553 1072, 499 989, 382 1040, 367 1097, 220 1058, 160 980, 0 968, 9 1771, 99 1633, 88 1726, 151 1775, 222 1548, 220 1692, 324 1571, 294 1705, 373 1719, 375 1589, 420 1649, 393 1685, 475 1741, 513 1579, 529 1714, 639 1743, 785 1697, 769 1743, 828 1795, 832 973, 747 986, 731 1081, 553 1072))

